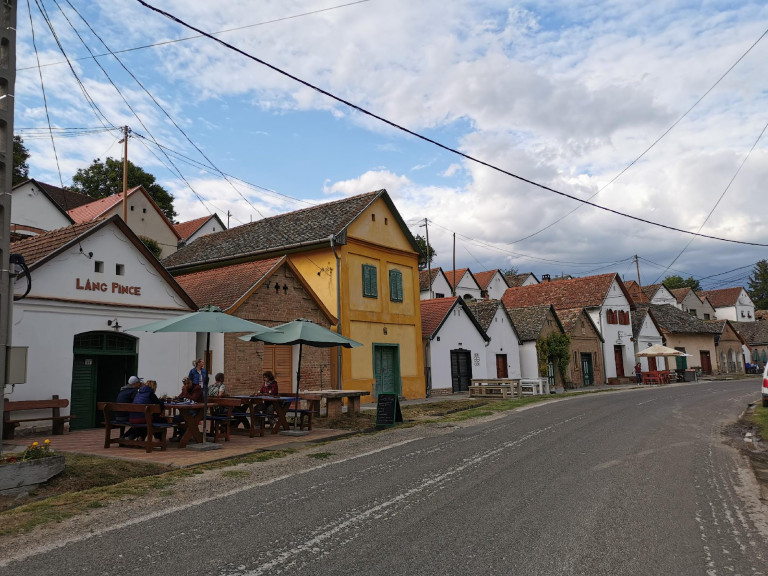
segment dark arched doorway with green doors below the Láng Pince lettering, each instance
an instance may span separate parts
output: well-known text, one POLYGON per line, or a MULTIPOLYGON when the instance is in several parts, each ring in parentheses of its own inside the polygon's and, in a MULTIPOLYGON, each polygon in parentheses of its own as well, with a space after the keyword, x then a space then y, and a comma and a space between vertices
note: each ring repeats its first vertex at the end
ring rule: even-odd
POLYGON ((70 414, 75 417, 70 421, 70 428, 82 430, 101 423, 96 404, 114 400, 128 378, 136 374, 137 341, 136 337, 121 332, 75 335, 70 395, 70 414))

